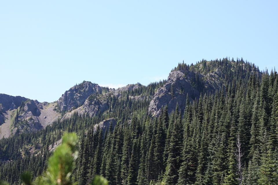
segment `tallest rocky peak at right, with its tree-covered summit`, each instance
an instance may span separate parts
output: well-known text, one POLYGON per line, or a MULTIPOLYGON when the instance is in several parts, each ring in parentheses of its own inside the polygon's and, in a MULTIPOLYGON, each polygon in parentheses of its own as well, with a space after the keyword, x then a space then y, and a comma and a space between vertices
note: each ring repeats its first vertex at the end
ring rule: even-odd
POLYGON ((241 60, 202 60, 198 63, 179 63, 169 73, 166 84, 159 88, 149 104, 149 114, 158 116, 162 106, 168 105, 168 112, 175 109, 177 103, 184 110, 186 96, 192 101, 199 98, 201 93, 213 93, 231 83, 234 76, 244 79, 250 74, 259 77, 261 73, 253 64, 241 60))

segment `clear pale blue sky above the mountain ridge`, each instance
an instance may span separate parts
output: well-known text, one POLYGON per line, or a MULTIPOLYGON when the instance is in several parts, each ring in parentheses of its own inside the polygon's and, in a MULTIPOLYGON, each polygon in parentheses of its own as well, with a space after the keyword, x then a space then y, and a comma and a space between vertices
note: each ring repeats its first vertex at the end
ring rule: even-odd
POLYGON ((83 80, 166 79, 178 62, 277 67, 277 1, 2 1, 0 93, 55 101, 83 80))

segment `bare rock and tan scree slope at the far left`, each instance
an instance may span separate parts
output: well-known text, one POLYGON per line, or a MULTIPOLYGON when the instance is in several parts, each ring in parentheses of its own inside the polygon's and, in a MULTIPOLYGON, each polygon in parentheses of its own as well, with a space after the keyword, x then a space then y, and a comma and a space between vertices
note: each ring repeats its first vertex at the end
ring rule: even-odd
POLYGON ((49 104, 47 102, 40 103, 37 100, 31 100, 20 96, 14 97, 0 94, 0 104, 1 137, 10 136, 10 129, 12 129, 12 134, 39 130, 43 128, 43 125, 46 126, 52 123, 61 115, 59 112, 53 110, 56 103, 55 105, 54 103, 49 104), (51 110, 49 110, 49 106, 51 106, 51 110), (17 112, 18 116, 16 116, 17 112), (41 115, 41 112, 43 112, 43 115, 41 115), (45 117, 45 119, 42 121, 43 117, 45 117))

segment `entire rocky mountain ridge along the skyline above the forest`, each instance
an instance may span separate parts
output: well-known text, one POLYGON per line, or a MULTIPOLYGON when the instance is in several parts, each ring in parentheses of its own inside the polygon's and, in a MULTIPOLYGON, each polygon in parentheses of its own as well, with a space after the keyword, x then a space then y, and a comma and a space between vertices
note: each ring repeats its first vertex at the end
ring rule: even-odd
MULTIPOLYGON (((21 96, 0 94, 0 103, 2 103, 0 124, 8 120, 5 116, 12 115, 12 112, 9 113, 11 115, 7 113, 8 110, 15 111, 17 109, 19 115, 11 117, 12 120, 9 122, 11 134, 24 132, 24 130, 38 130, 58 119, 69 119, 75 113, 89 116, 103 114, 110 111, 116 99, 120 101, 122 96, 128 96, 138 101, 150 99, 149 114, 159 116, 165 106, 168 107, 169 113, 175 110, 177 104, 182 111, 185 108, 187 96, 189 101, 193 101, 198 99, 202 93, 214 93, 222 86, 231 85, 232 82, 227 79, 233 75, 242 75, 242 79, 244 79, 245 76, 250 76, 252 73, 261 74, 254 64, 244 62, 242 59, 230 61, 228 58, 223 58, 222 60, 202 60, 195 65, 179 63, 171 70, 168 79, 161 83, 162 86, 152 89, 152 92, 148 91, 149 86, 140 83, 128 84, 115 90, 83 81, 66 90, 57 101, 52 103, 41 103, 21 96), (40 116, 41 112, 44 112, 43 118, 40 116), (17 120, 14 120, 15 118, 17 120)), ((3 133, 0 134, 0 136, 2 135, 3 133)))

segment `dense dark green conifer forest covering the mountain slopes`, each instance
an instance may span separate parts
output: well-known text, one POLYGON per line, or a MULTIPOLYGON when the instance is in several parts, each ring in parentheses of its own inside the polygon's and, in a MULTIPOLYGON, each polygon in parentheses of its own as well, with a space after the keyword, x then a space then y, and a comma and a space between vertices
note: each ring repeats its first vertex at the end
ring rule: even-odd
MULTIPOLYGON (((36 132, 0 140, 0 178, 21 184, 47 169, 52 148, 65 132, 79 136, 76 168, 70 176, 89 184, 102 175, 109 185, 275 185, 278 184, 278 75, 260 72, 242 59, 178 64, 172 71, 210 74, 219 70, 222 86, 199 99, 187 99, 158 117, 148 113, 150 98, 165 81, 152 83, 120 98, 111 96, 108 111, 74 114, 36 132), (129 95, 148 95, 130 99, 129 95), (103 131, 94 125, 115 118, 103 131)), ((201 87, 196 75, 192 84, 201 87)), ((200 88, 199 88, 200 89, 200 88)))

